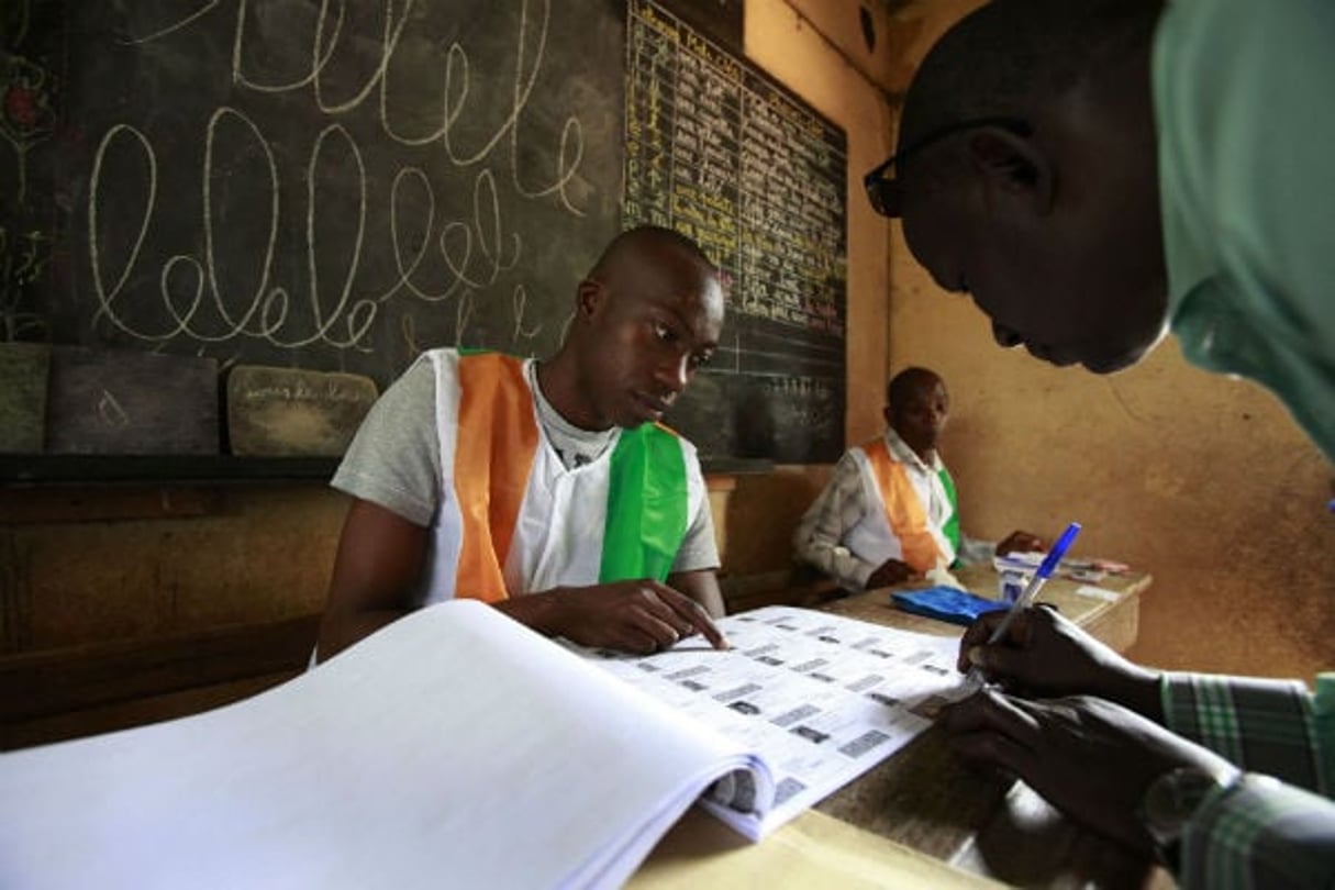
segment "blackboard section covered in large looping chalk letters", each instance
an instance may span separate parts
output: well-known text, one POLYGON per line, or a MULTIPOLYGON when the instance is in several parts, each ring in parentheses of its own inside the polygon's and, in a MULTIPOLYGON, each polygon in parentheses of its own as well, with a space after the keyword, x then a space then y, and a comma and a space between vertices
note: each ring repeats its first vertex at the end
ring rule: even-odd
POLYGON ((617 0, 67 3, 56 342, 553 351, 619 226, 617 0))

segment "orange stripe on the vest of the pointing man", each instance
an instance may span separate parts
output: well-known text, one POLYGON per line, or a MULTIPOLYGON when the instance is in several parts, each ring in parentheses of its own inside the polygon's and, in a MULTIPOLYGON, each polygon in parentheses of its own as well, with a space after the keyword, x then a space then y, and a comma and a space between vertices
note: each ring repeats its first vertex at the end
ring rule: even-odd
POLYGON ((502 567, 529 488, 538 423, 523 364, 495 352, 461 356, 454 491, 463 515, 455 596, 509 598, 502 567))

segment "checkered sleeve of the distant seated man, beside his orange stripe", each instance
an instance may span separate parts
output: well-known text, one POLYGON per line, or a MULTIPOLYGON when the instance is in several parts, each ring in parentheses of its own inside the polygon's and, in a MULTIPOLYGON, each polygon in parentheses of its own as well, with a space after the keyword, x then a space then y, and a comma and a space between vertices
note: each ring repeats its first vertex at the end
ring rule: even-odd
POLYGON ((816 566, 845 590, 865 590, 866 579, 876 571, 876 566, 858 559, 841 543, 848 530, 862 518, 865 502, 857 459, 850 452, 845 454, 834 464, 829 484, 812 502, 793 532, 797 558, 816 566))

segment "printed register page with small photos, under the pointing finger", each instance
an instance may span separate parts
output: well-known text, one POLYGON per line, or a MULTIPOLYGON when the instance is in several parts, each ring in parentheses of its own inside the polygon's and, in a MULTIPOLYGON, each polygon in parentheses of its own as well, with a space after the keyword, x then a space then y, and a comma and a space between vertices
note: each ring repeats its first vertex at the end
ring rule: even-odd
POLYGON ((769 763, 776 802, 762 819, 706 805, 753 839, 890 757, 967 693, 956 638, 785 606, 718 626, 730 651, 698 636, 639 658, 581 651, 769 763))

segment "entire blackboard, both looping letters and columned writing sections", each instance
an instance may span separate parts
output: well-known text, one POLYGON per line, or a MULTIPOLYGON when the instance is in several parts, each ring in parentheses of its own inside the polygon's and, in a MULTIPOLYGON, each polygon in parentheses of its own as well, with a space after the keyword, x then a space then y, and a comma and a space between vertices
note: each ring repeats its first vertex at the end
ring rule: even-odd
POLYGON ((844 135, 741 60, 741 0, 4 7, 0 340, 383 388, 435 346, 550 354, 655 221, 736 283, 669 422, 706 459, 841 452, 844 135))

